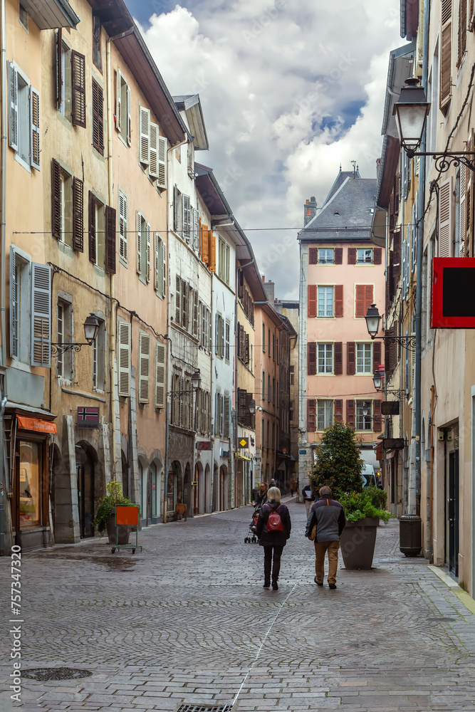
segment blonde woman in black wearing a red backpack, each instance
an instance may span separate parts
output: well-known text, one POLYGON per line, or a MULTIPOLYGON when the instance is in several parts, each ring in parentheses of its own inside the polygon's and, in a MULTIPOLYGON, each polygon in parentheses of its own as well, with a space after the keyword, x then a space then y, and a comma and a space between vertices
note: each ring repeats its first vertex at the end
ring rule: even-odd
POLYGON ((264 588, 278 590, 278 575, 281 571, 281 556, 283 548, 291 535, 291 515, 285 504, 281 504, 281 491, 271 487, 268 491, 268 501, 261 508, 257 520, 257 535, 259 544, 264 549, 264 588))

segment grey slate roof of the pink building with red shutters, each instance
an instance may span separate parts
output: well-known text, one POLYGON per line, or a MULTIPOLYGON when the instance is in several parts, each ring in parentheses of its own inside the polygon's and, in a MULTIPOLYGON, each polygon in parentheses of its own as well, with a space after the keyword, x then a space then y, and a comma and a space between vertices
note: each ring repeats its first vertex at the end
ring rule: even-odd
POLYGON ((298 234, 301 241, 369 241, 376 179, 345 178, 337 192, 298 234))

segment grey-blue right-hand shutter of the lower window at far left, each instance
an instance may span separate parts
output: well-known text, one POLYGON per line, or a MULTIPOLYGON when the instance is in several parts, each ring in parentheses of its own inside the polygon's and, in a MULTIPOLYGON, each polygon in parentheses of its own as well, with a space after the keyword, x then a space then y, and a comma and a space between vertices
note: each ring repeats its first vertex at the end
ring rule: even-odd
POLYGON ((51 268, 31 264, 31 365, 51 367, 51 268))

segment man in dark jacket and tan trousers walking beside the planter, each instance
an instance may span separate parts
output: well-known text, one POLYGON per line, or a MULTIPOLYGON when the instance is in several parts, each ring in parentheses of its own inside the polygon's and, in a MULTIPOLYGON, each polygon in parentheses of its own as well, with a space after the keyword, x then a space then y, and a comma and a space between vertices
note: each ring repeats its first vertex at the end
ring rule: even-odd
POLYGON ((312 540, 315 527, 315 578, 318 586, 323 586, 325 577, 325 553, 328 554, 328 587, 336 588, 338 569, 338 549, 340 536, 345 528, 345 510, 340 502, 332 499, 330 487, 324 485, 318 492, 320 499, 310 508, 305 535, 312 540))

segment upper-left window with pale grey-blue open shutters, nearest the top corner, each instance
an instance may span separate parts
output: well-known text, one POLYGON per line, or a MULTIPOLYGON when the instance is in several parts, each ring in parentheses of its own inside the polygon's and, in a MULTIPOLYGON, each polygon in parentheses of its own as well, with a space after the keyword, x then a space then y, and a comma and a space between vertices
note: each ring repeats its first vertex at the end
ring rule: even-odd
POLYGON ((9 68, 9 146, 28 170, 40 169, 40 95, 15 62, 9 68))

